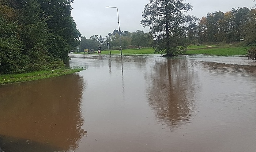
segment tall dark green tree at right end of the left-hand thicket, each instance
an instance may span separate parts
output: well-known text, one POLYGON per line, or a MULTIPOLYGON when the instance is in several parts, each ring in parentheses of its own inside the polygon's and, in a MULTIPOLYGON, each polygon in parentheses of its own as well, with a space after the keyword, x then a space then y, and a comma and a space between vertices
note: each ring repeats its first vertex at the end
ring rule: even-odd
POLYGON ((38 0, 50 33, 48 51, 64 61, 69 60, 68 53, 79 45, 79 37, 82 37, 71 16, 73 1, 38 0), (57 47, 50 47, 52 45, 57 47))

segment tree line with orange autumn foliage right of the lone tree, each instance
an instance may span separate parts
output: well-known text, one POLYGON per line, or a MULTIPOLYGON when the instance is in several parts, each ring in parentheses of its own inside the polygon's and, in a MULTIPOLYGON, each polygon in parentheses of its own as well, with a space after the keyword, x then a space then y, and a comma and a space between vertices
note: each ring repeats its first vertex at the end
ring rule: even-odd
POLYGON ((256 44, 256 9, 233 8, 231 11, 208 13, 198 23, 190 23, 188 39, 191 44, 242 43, 256 44))

